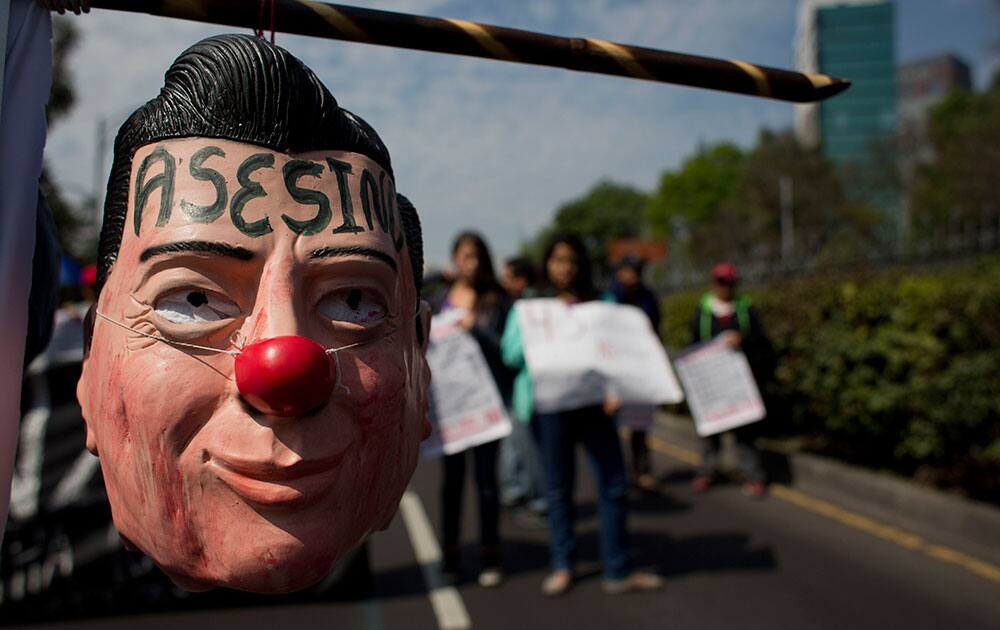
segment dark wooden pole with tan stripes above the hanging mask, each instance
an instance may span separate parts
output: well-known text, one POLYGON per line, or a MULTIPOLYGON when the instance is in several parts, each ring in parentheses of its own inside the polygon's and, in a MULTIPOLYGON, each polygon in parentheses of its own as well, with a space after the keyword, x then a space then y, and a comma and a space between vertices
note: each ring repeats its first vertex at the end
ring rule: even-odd
MULTIPOLYGON (((558 37, 315 0, 273 2, 275 30, 295 35, 567 68, 799 103, 819 101, 850 86, 849 81, 824 74, 791 72, 603 39, 558 37)), ((270 26, 270 19, 261 24, 260 5, 250 0, 91 0, 90 4, 251 30, 270 26)))

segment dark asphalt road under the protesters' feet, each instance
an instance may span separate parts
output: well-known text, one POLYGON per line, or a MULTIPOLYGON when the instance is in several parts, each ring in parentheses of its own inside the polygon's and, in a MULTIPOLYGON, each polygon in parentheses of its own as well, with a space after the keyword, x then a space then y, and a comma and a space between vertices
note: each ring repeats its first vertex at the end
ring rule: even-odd
MULTIPOLYGON (((558 599, 539 593, 546 573, 546 532, 510 514, 502 523, 508 580, 499 589, 479 588, 469 509, 468 579, 457 589, 429 588, 437 585, 436 566, 422 566, 418 558, 433 558, 436 545, 421 538, 421 516, 426 514, 431 529, 439 531, 440 466, 430 462, 418 469, 401 516, 371 545, 374 599, 49 627, 132 628, 141 622, 149 628, 377 630, 462 627, 468 620, 473 628, 503 630, 1000 628, 1000 578, 989 573, 995 565, 982 565, 976 573, 968 562, 908 548, 905 536, 872 535, 870 522, 794 490, 753 500, 736 486, 721 486, 695 496, 689 489, 693 454, 662 442, 659 447, 655 464, 664 477, 663 492, 635 495, 630 515, 636 564, 667 578, 657 593, 611 597, 601 592, 594 492, 582 461, 581 577, 570 593, 558 599), (825 507, 817 510, 813 504, 825 507)), ((467 501, 474 501, 471 488, 467 501)))

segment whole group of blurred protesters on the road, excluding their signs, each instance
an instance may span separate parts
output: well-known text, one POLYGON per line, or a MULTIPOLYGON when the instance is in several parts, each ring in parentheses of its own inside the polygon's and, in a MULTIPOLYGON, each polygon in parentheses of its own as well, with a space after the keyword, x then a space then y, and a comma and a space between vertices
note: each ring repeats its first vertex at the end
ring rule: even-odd
MULTIPOLYGON (((619 440, 619 425, 626 409, 607 395, 603 404, 558 412, 535 409, 531 369, 525 360, 524 341, 516 310, 517 300, 555 298, 566 304, 604 300, 641 309, 652 330, 660 327, 660 298, 643 281, 644 261, 626 255, 615 261, 607 290, 595 285, 591 259, 584 242, 572 233, 553 235, 537 269, 525 257, 507 260, 499 274, 489 247, 475 232, 462 232, 453 243, 451 271, 428 282, 427 299, 435 313, 461 309, 460 325, 482 350, 512 418, 510 435, 468 451, 443 457, 442 570, 447 579, 461 578, 460 531, 462 495, 467 456, 471 453, 479 500, 480 554, 478 582, 495 587, 503 581, 499 531, 501 506, 515 517, 547 522, 550 572, 541 585, 547 596, 566 593, 573 586, 577 538, 576 446, 586 452, 597 488, 603 589, 608 594, 660 588, 655 573, 637 571, 630 558, 627 513, 632 485, 657 492, 659 481, 650 458, 647 430, 632 426, 628 441, 629 466, 619 440)), ((722 339, 747 356, 758 383, 773 369, 770 344, 749 299, 736 291, 737 271, 720 263, 711 272, 712 289, 692 314, 692 339, 722 339)), ((634 410, 631 410, 634 411, 634 410)), ((648 412, 650 419, 655 408, 648 412)), ((753 445, 754 427, 733 431, 738 471, 744 492, 760 497, 766 491, 765 473, 753 445)), ((721 435, 703 440, 703 463, 693 481, 696 492, 708 490, 719 476, 721 435)))

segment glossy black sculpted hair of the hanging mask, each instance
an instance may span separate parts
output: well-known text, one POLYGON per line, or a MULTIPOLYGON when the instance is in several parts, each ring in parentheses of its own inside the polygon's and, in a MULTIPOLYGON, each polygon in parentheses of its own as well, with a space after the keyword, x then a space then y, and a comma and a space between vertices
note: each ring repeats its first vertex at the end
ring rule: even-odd
MULTIPOLYGON (((203 39, 181 53, 167 70, 160 94, 118 130, 98 247, 98 292, 121 246, 135 152, 186 137, 222 138, 284 153, 351 151, 392 175, 389 150, 375 130, 341 109, 312 70, 287 50, 251 35, 203 39)), ((413 213, 408 222, 416 230, 404 230, 410 256, 423 250, 411 240, 411 232, 420 235, 413 213)), ((414 282, 419 288, 416 268, 414 282)))

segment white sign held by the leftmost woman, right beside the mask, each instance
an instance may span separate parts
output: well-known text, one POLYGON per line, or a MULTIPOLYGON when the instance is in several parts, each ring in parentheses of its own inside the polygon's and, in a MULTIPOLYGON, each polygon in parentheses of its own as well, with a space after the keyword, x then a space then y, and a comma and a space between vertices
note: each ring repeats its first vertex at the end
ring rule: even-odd
POLYGON ((510 419, 479 344, 458 325, 455 309, 431 320, 427 362, 434 431, 420 445, 425 458, 460 453, 510 434, 510 419))

